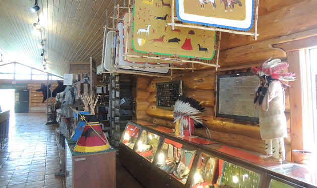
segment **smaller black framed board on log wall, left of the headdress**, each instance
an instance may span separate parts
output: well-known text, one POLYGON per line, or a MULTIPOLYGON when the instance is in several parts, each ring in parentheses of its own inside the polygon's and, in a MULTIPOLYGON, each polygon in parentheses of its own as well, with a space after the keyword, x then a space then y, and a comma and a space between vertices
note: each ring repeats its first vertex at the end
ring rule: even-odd
POLYGON ((162 109, 174 109, 178 96, 182 94, 182 81, 156 83, 156 106, 162 109))

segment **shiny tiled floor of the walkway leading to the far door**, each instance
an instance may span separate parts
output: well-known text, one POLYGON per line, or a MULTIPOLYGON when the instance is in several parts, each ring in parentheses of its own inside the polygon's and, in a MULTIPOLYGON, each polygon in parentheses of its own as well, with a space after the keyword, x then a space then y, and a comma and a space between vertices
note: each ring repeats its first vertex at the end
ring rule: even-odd
POLYGON ((0 150, 0 187, 63 187, 55 125, 44 113, 10 115, 9 142, 0 150))

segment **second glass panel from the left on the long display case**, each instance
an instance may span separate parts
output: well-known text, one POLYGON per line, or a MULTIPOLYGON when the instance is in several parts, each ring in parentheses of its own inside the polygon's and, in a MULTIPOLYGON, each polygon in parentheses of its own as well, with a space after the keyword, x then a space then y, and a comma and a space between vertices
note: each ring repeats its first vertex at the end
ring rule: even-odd
POLYGON ((143 130, 139 140, 137 141, 135 151, 148 161, 153 162, 160 140, 160 136, 143 130))

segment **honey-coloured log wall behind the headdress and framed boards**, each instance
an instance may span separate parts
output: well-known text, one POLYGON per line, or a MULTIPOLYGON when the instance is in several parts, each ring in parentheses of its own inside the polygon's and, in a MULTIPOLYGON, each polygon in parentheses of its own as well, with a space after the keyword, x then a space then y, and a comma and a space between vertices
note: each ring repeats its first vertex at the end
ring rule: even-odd
MULTIPOLYGON (((220 4, 221 6, 221 4, 220 4)), ((261 65, 269 57, 286 60, 286 52, 273 44, 289 42, 317 35, 317 4, 308 0, 260 1, 258 12, 258 39, 222 32, 218 71, 237 70, 261 65)), ((201 102, 206 108, 206 125, 213 140, 231 146, 265 153, 259 126, 255 122, 228 118, 214 118, 215 70, 195 65, 194 72, 173 72, 173 81, 182 80, 183 93, 201 102)), ((156 108, 155 83, 170 81, 166 78, 138 76, 137 119, 174 128, 173 111, 156 108)), ((288 138, 285 138, 286 160, 291 161, 289 89, 286 90, 288 138)), ((204 129, 194 134, 206 137, 204 129)))

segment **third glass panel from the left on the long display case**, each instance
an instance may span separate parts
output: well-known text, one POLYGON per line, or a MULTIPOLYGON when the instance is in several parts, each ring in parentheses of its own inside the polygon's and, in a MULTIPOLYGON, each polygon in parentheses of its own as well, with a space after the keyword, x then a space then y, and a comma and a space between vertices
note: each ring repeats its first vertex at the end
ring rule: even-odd
POLYGON ((183 184, 186 184, 196 150, 170 139, 165 139, 158 153, 156 165, 183 184))

